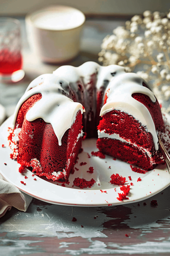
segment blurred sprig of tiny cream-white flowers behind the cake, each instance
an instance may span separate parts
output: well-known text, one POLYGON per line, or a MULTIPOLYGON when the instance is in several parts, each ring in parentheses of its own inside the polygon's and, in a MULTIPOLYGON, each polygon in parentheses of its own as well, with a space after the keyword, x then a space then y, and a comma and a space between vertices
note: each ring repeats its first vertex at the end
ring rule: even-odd
POLYGON ((126 72, 135 71, 150 83, 160 102, 170 99, 170 9, 133 16, 106 36, 101 48, 98 60, 103 66, 117 64, 126 72))

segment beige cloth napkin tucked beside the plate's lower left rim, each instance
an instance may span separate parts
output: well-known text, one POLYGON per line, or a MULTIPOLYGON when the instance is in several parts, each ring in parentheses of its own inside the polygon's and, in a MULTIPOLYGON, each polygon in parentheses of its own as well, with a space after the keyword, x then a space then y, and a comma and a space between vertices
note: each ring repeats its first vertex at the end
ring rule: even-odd
POLYGON ((19 191, 17 187, 3 180, 0 174, 0 218, 12 206, 21 211, 26 211, 32 200, 31 196, 19 191))

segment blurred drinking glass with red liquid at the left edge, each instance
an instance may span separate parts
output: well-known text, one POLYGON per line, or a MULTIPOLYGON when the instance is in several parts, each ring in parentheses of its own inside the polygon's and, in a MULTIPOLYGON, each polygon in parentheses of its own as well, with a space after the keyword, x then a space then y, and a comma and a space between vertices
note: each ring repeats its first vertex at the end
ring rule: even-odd
POLYGON ((20 22, 13 18, 0 18, 0 81, 17 82, 24 74, 20 22))

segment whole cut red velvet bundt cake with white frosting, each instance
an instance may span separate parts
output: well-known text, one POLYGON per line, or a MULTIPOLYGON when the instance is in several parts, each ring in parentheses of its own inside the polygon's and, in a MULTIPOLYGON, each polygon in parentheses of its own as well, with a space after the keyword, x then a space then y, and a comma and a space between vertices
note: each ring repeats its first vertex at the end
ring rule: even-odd
POLYGON ((145 81, 123 67, 95 62, 61 66, 34 79, 17 104, 13 126, 11 158, 21 164, 19 171, 31 166, 58 182, 68 181, 83 132, 97 137, 98 127, 102 153, 145 170, 164 162, 157 133, 169 137, 145 81))

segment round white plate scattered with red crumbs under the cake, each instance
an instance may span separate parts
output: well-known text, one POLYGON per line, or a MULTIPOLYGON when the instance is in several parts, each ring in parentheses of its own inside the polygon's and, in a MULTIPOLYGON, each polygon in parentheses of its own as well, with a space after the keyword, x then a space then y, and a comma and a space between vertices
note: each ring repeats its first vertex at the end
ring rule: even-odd
MULTIPOLYGON (((170 116, 167 117, 170 120, 170 116)), ((66 184, 66 187, 61 186, 61 183, 49 181, 46 178, 40 178, 36 175, 32 177, 30 170, 27 170, 27 173, 21 174, 18 172, 20 165, 9 157, 11 150, 7 142, 7 128, 10 127, 11 120, 12 117, 8 118, 0 127, 0 173, 5 180, 35 198, 61 205, 119 205, 149 198, 170 185, 170 175, 166 165, 159 165, 146 174, 139 174, 133 172, 129 164, 118 159, 114 161, 110 156, 106 156, 105 159, 91 156, 92 151, 98 151, 96 148, 96 139, 86 139, 83 141, 83 152, 79 154, 78 163, 75 165, 79 170, 75 170, 74 174, 70 174, 70 184, 66 184), (1 147, 2 144, 5 144, 6 147, 1 147), (90 158, 87 153, 91 156, 90 158), (87 164, 80 166, 81 162, 86 162, 87 164), (94 168, 94 173, 92 174, 87 173, 90 166, 94 168), (117 200, 118 193, 122 193, 122 191, 120 190, 120 186, 110 183, 110 176, 113 173, 118 173, 126 177, 127 182, 125 185, 130 184, 130 182, 134 184, 130 186, 129 199, 124 201, 117 200), (28 177, 27 179, 24 178, 25 175, 28 177), (131 181, 128 176, 131 176, 131 181), (94 178, 96 183, 91 188, 80 189, 73 186, 73 180, 77 177, 86 180, 94 178), (139 177, 141 181, 137 182, 139 177), (20 181, 23 181, 26 185, 21 184, 20 181), (106 191, 106 193, 101 190, 106 191)))

